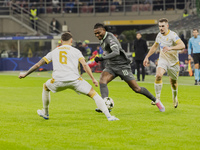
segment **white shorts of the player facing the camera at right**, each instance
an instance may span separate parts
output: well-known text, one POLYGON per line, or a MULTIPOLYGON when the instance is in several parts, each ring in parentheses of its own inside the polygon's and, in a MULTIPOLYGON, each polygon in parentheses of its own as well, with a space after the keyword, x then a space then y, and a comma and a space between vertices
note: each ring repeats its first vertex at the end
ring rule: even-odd
POLYGON ((174 66, 170 66, 170 64, 167 61, 164 60, 158 60, 158 67, 161 67, 167 71, 168 76, 173 80, 178 80, 180 66, 179 62, 177 62, 174 66))

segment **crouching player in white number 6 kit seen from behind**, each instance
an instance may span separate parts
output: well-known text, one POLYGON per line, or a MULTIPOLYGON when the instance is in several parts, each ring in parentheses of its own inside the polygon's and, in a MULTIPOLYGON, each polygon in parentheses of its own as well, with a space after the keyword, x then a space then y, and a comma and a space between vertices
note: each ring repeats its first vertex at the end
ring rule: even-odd
POLYGON ((98 86, 98 81, 92 75, 91 69, 85 62, 81 52, 71 46, 73 41, 71 33, 66 32, 62 34, 61 40, 62 46, 49 52, 38 63, 33 65, 25 74, 19 75, 20 79, 25 78, 45 63, 48 64, 51 61, 53 63, 52 79, 49 79, 43 85, 42 101, 44 109, 37 110, 38 115, 44 119, 49 119, 50 91, 55 93, 70 88, 77 93, 82 93, 93 98, 97 107, 103 111, 109 121, 119 120, 118 118, 110 115, 101 96, 99 96, 99 94, 87 81, 80 77, 78 72, 79 62, 83 65, 85 71, 88 73, 95 86, 98 86))

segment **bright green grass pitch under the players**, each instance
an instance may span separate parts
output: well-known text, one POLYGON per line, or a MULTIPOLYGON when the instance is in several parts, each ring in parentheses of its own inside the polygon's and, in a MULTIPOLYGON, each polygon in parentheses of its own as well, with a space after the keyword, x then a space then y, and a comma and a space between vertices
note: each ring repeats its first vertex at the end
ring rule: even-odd
MULTIPOLYGON (((94 75, 99 79, 100 74, 94 75)), ((200 149, 200 86, 193 85, 194 77, 179 77, 177 109, 169 78, 163 77, 164 113, 116 78, 108 84, 115 102, 112 115, 120 119, 113 122, 94 111, 92 99, 72 90, 51 93, 50 119, 39 117, 42 85, 49 78, 51 72, 25 79, 18 79, 18 72, 0 72, 1 150, 200 149)), ((86 74, 83 78, 92 83, 86 74)), ((154 79, 146 76, 138 84, 154 94, 154 79)))

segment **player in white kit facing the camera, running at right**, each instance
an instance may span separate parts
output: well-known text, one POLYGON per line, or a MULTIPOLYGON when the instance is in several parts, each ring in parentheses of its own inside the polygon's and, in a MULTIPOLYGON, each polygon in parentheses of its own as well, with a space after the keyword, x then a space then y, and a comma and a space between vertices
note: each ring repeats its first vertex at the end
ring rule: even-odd
MULTIPOLYGON (((156 98, 160 99, 162 89, 162 76, 165 72, 170 77, 172 98, 174 108, 178 107, 178 74, 180 70, 178 51, 185 48, 185 44, 179 38, 179 36, 169 30, 168 19, 162 18, 159 20, 159 30, 156 37, 156 41, 146 55, 143 65, 146 66, 149 62, 149 57, 160 47, 160 55, 158 60, 158 66, 156 68, 156 80, 154 83, 156 98)), ((154 104, 153 102, 151 104, 154 104)))

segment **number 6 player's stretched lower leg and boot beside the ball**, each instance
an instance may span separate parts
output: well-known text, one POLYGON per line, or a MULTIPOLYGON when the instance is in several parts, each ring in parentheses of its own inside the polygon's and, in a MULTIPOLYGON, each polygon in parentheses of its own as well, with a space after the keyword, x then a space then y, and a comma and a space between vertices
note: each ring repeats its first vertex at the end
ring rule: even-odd
POLYGON ((93 88, 88 93, 88 96, 94 99, 97 107, 105 114, 105 116, 108 118, 108 121, 119 120, 118 118, 111 116, 102 97, 93 88))

